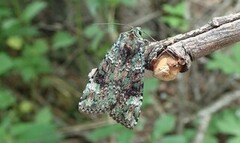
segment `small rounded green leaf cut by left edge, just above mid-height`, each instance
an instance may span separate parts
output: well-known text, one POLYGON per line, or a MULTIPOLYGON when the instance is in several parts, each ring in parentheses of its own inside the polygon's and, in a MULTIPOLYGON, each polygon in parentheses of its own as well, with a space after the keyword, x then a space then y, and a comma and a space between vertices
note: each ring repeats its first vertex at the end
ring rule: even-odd
POLYGON ((5 74, 13 67, 12 59, 5 53, 0 53, 0 75, 5 74))

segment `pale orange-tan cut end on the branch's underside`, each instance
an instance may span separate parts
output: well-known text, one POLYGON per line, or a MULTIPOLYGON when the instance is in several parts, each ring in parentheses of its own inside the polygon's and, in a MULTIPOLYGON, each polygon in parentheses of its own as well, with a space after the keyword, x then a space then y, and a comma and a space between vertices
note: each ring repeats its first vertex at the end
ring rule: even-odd
POLYGON ((164 81, 174 80, 181 70, 182 64, 179 59, 167 52, 163 53, 153 65, 154 77, 164 81))

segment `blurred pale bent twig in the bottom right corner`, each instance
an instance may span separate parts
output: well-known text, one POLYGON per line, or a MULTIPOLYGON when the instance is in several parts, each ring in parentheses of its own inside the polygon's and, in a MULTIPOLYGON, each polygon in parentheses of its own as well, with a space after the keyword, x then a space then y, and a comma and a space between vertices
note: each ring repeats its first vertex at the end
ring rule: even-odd
POLYGON ((212 114, 221 110, 223 107, 230 105, 232 102, 240 99, 240 90, 230 92, 228 94, 223 95, 222 98, 214 102, 212 105, 206 107, 198 113, 199 117, 199 126, 198 132, 195 136, 193 143, 202 143, 204 140, 204 134, 208 129, 208 124, 211 120, 212 114))

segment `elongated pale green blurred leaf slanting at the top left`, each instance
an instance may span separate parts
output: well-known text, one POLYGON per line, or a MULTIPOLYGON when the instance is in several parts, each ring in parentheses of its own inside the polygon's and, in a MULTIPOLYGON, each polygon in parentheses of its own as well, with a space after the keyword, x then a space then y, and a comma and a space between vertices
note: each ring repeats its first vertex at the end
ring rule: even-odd
POLYGON ((39 14, 44 8, 46 8, 47 3, 44 1, 33 1, 30 3, 23 11, 21 18, 23 21, 31 21, 37 14, 39 14))

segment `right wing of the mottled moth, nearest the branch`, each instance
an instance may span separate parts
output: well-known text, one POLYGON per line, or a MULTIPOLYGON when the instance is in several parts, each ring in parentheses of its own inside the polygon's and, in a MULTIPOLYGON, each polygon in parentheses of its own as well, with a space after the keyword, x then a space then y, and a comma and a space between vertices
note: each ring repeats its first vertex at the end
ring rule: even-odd
POLYGON ((121 94, 110 111, 110 116, 127 128, 133 128, 139 119, 143 99, 143 47, 122 68, 121 94))

